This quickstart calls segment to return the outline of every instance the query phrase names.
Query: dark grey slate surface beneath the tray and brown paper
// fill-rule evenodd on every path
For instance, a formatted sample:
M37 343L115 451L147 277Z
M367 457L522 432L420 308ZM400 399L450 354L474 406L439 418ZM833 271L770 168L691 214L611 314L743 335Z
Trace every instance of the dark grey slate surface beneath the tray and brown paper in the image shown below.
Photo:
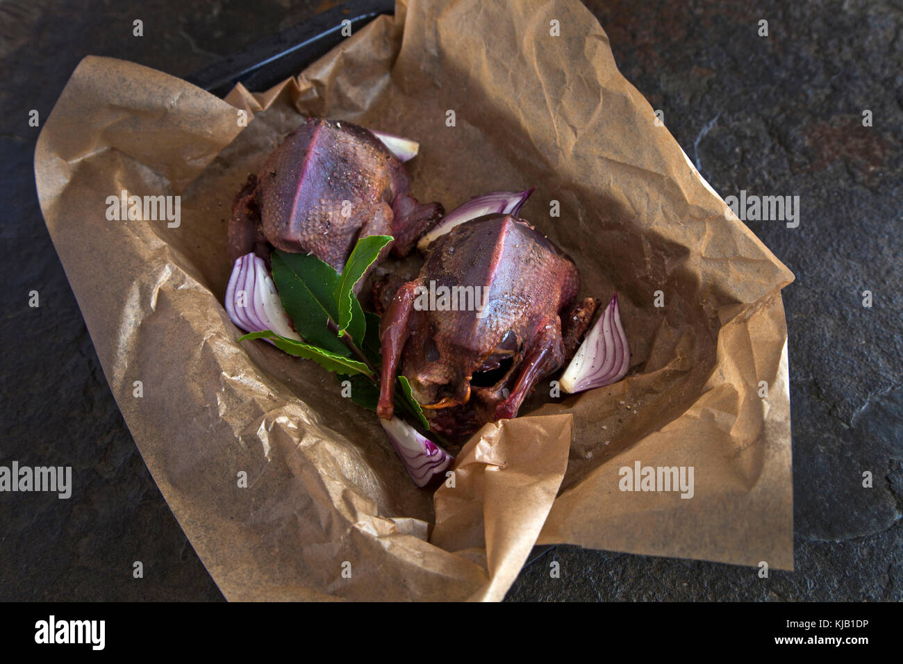
M0 463L71 465L77 478L70 500L0 493L0 600L222 598L110 395L38 210L28 110L46 117L87 53L185 76L333 4L258 0L253 20L238 0L0 5ZM557 547L508 599L903 599L903 7L588 5L622 72L716 191L800 197L796 229L749 222L796 273L784 291L796 572L759 579L750 568ZM131 36L135 18L143 38ZM874 126L861 125L864 109ZM32 289L38 309L27 305ZM866 470L872 489L861 487ZM132 578L135 560L144 579ZM561 578L550 577L552 560Z

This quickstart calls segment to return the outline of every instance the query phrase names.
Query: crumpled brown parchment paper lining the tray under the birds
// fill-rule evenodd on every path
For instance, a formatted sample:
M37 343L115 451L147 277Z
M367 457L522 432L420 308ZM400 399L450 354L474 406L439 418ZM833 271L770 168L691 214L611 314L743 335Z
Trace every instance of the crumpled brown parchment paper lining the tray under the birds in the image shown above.
M414 488L334 377L237 343L221 305L232 197L302 115L419 140L414 195L447 210L535 185L522 215L585 294L619 293L628 378L537 390L464 446L454 488ZM42 212L135 443L229 600L498 600L537 541L792 568L793 276L655 120L576 0L399 2L297 79L226 100L81 61L35 152ZM122 190L180 195L181 225L107 220ZM694 497L619 491L637 461L693 466Z

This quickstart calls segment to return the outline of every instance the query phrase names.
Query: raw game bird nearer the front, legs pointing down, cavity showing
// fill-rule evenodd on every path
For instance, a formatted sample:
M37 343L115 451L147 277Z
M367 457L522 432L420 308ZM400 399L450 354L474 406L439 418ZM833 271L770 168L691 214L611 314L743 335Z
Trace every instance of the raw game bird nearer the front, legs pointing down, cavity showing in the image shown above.
M418 310L424 304L417 304L418 286L431 281L435 289L485 287L482 317ZM457 439L517 416L537 381L573 353L564 339L579 339L591 321L595 300L572 306L579 286L573 261L511 215L480 217L436 239L420 274L398 288L382 320L379 416L393 414L399 370L441 434Z

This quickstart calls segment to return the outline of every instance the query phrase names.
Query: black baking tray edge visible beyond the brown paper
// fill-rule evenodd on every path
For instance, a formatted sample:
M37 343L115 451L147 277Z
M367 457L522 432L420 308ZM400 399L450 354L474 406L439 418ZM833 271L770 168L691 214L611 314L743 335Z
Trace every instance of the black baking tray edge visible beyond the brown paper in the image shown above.
M349 0L214 62L186 80L220 98L236 83L261 92L296 76L337 46L345 39L341 34L343 21L350 21L353 34L378 15L394 13L394 0ZM533 547L524 566L532 565L553 548Z

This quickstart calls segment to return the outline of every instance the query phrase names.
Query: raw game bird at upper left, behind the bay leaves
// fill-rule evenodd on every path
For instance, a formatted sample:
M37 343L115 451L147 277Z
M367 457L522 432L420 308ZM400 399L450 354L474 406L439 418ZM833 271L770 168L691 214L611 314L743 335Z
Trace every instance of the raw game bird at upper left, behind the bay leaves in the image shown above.
M340 271L359 238L391 235L385 251L405 256L441 217L441 205L410 196L405 165L367 129L312 117L238 192L229 257L263 256L268 242Z

